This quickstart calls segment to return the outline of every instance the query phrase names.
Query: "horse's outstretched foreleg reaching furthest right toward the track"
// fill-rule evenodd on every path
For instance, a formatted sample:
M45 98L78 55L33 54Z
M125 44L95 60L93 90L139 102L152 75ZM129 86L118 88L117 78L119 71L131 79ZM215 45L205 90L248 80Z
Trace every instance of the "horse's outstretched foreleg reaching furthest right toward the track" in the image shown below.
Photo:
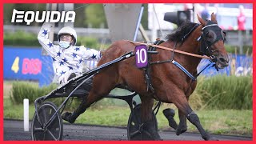
M217 140L216 138L210 137L209 134L206 133L206 130L202 128L202 125L199 121L198 115L194 113L194 111L189 106L185 95L179 95L178 98L174 101L175 106L178 107L178 110L181 110L182 114L186 115L186 118L198 128L198 131L202 135L202 138L206 141L208 140Z

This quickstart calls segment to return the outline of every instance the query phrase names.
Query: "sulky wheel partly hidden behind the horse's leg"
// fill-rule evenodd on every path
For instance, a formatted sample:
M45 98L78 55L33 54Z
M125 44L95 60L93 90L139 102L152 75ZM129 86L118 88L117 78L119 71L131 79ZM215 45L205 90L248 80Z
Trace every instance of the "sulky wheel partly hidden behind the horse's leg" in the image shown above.
M128 125L127 125L127 137L128 140L153 140L149 133L146 133L142 129L141 121L141 104L134 107L134 113L130 113ZM152 117L154 122L154 129L158 130L158 122L152 111Z

